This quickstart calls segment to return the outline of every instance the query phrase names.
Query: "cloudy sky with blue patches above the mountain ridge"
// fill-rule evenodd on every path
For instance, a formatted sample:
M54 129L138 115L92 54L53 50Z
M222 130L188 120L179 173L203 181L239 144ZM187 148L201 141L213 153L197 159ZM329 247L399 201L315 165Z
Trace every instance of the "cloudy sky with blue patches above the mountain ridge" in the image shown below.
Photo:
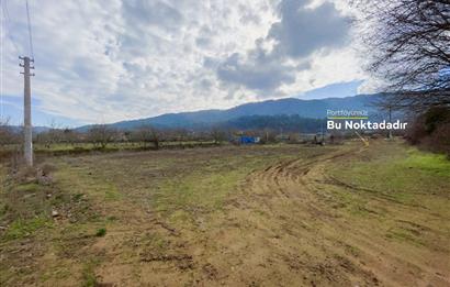
M25 0L1 1L1 110L20 123ZM345 0L29 0L35 125L370 91Z

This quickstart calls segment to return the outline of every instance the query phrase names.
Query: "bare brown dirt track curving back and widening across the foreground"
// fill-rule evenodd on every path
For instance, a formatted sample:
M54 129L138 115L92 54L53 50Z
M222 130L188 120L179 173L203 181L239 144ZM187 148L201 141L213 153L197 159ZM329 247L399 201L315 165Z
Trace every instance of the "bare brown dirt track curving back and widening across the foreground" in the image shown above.
M414 232L429 232L410 221L424 210L327 173L328 165L360 153L324 150L256 170L224 210L195 214L196 228L121 203L126 229L91 249L109 258L97 274L113 286L449 286L439 246L405 247L380 228L391 220L381 213L389 212ZM369 216L349 216L339 192L363 192ZM160 251L148 245L160 239Z

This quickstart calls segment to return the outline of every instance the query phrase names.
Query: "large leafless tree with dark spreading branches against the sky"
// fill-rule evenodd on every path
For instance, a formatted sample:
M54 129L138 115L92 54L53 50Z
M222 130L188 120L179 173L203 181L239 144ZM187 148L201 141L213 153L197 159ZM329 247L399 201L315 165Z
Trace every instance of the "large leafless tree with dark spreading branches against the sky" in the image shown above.
M386 107L450 104L450 1L353 0L368 70L385 87Z

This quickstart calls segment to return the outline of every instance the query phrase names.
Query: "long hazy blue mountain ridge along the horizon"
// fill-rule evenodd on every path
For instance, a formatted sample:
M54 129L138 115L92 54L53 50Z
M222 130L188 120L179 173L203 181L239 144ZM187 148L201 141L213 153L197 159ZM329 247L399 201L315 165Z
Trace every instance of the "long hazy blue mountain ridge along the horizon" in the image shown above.
M299 114L302 118L324 119L326 118L327 109L364 109L369 112L376 113L378 110L373 106L373 102L378 97L379 95L358 95L346 98L326 98L317 100L286 98L245 103L227 110L202 110L194 112L166 113L153 118L121 121L112 123L110 126L130 130L146 124L150 124L156 128L204 128L248 115ZM83 125L77 130L86 131L90 126L92 125Z

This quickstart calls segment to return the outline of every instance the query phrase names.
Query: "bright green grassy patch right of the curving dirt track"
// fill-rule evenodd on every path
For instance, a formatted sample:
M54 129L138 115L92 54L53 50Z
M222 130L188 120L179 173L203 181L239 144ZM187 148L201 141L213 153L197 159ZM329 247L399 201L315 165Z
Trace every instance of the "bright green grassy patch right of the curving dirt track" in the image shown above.
M383 148L368 151L360 161L344 163L334 174L349 184L383 190L394 197L447 191L445 188L450 179L450 161L445 155L398 144L385 145ZM373 155L373 152L381 154Z

